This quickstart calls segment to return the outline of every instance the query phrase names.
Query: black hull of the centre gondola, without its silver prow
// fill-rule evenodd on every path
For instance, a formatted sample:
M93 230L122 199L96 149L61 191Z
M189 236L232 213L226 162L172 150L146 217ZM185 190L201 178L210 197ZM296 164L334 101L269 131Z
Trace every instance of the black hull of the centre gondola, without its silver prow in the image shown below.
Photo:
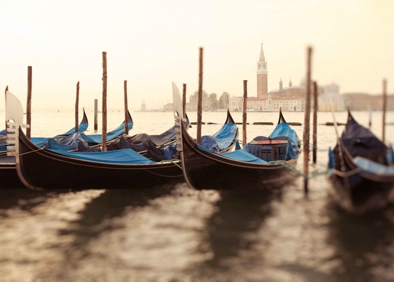
M184 127L182 140L185 178L197 189L266 189L280 187L295 176L281 165L241 162L200 150ZM296 159L289 163L294 165Z

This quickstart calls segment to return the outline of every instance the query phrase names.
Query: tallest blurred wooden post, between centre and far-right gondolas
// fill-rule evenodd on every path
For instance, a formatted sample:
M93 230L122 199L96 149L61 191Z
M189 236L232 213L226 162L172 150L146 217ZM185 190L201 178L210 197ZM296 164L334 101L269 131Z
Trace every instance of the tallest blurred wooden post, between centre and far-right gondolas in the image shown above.
M303 136L303 153L304 153L304 190L308 192L308 165L309 165L309 119L311 116L311 54L312 48L308 47L307 58L307 81L306 81L306 94L305 94L305 116L304 116L304 136Z

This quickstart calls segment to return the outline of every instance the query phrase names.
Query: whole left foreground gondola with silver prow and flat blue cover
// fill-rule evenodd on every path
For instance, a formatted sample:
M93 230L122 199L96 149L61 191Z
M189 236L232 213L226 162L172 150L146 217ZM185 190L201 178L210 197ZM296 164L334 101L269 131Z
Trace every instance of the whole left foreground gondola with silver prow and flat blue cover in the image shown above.
M33 189L147 188L183 180L179 161L156 163L131 149L106 152L69 152L42 149L22 130L23 109L6 91L8 132L13 132L16 171ZM11 122L13 120L14 122Z

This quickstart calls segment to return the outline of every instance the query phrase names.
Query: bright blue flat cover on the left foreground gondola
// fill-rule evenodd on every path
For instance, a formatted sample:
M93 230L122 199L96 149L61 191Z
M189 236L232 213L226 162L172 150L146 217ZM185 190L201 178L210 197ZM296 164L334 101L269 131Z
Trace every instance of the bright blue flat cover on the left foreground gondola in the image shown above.
M65 155L71 158L85 160L90 162L99 162L106 164L120 164L120 165L142 165L142 164L156 164L144 156L134 152L131 149L122 149L115 151L106 151L106 152L91 152L91 153L82 153L82 152L68 152L62 150L52 150L50 151Z

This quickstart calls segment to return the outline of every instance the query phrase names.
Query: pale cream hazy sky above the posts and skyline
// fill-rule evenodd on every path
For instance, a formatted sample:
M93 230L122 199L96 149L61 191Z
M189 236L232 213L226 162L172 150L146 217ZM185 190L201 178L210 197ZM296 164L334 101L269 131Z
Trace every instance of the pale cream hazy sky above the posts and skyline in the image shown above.
M394 92L394 0L4 0L0 10L0 87L25 105L32 66L33 108L73 108L78 81L81 107L100 101L103 51L109 107L123 107L125 80L131 109L171 102L172 81L193 94L199 47L206 93L242 95L248 80L256 96L262 43L268 90L299 85L312 46L318 84L381 94L387 79Z

